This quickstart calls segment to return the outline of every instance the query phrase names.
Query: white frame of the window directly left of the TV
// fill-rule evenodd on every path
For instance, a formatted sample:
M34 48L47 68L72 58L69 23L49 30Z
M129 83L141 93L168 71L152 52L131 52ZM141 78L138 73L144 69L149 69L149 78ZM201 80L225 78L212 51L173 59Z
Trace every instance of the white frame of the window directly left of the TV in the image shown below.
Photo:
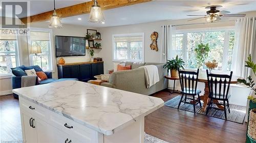
M49 41L49 55L48 55L48 57L50 58L50 60L49 60L49 70L46 70L46 71L44 71L44 72L55 72L55 60L53 60L54 59L54 54L53 54L53 52L54 52L54 46L53 46L53 34L52 34L52 29L48 29L48 28L35 28L35 27L31 27L30 28L30 31L34 31L34 32L49 32L49 39L50 39L50 41ZM30 53L30 50L31 50L31 44L32 44L32 41L31 41L31 39L30 39L30 31L29 31L29 34L28 34L28 44L29 44L29 46L28 46L28 51L29 51L29 65L30 66L33 66L33 54L31 54Z

